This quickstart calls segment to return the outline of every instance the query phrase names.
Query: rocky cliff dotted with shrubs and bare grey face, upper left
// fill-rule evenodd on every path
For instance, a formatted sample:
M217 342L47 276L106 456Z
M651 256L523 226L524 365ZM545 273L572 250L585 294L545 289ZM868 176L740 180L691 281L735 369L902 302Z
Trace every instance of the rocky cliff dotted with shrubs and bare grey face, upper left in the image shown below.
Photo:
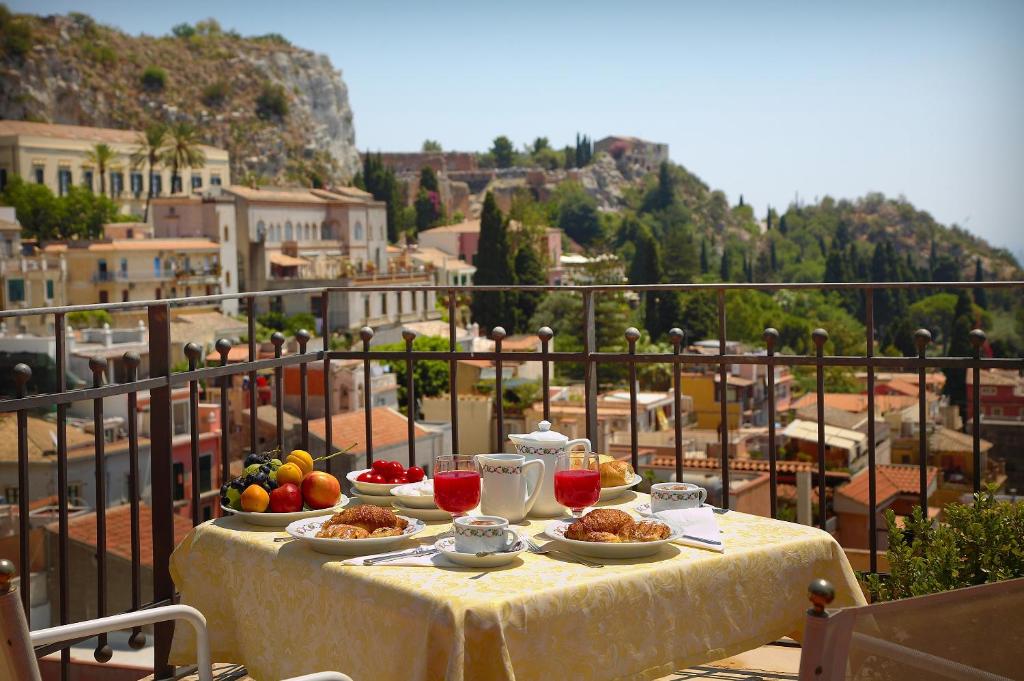
M215 22L129 36L84 14L22 15L0 50L0 118L141 129L194 123L231 153L236 181L316 184L358 169L348 90L326 55Z

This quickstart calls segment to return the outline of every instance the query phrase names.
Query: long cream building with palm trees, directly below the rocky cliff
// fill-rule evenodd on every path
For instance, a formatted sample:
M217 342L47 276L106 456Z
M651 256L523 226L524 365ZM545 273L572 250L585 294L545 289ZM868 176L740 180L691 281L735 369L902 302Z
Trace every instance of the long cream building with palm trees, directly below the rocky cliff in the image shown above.
M138 147L135 130L53 125L30 121L0 121L0 189L10 177L45 184L62 196L72 185L99 191L99 171L87 160L96 144L106 144L117 154L106 169L106 193L118 200L127 213L141 215L151 185L154 196L193 195L209 186L229 184L230 166L225 150L202 145L206 163L202 168L184 168L181 186L171 186L171 169L161 165L146 177L148 168L133 168L131 156Z

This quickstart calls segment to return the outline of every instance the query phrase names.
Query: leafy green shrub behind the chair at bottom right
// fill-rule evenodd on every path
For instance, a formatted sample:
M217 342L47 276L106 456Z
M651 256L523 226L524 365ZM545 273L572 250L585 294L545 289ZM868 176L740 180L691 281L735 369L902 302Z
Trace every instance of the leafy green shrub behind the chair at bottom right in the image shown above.
M888 576L869 574L874 600L922 596L1024 577L1024 504L995 500L991 490L974 503L949 504L932 524L914 507L904 527L889 510Z

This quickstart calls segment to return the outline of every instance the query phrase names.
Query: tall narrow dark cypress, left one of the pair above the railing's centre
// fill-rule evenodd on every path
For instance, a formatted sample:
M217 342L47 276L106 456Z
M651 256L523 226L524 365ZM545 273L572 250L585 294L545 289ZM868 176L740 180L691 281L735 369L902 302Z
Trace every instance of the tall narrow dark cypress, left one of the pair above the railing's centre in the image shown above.
M476 285L510 285L515 283L512 259L509 252L508 225L502 215L495 195L487 191L480 212L480 241L476 252ZM510 296L505 291L477 291L473 294L470 310L473 321L489 332L490 329L510 320L507 308Z

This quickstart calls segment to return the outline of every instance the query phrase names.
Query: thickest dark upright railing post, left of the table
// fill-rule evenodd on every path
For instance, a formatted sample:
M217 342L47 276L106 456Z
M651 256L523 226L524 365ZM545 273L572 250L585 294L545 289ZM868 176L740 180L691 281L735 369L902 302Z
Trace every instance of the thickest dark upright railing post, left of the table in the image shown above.
M150 375L167 379L167 383L150 392L150 467L152 476L153 514L153 600L169 601L174 597L171 580L171 552L174 550L174 497L171 472L171 327L167 303L154 303L147 308L150 328ZM250 385L256 389L255 380ZM255 451L255 450L254 450ZM154 625L154 676L170 677L174 668L167 664L171 651L173 623Z

